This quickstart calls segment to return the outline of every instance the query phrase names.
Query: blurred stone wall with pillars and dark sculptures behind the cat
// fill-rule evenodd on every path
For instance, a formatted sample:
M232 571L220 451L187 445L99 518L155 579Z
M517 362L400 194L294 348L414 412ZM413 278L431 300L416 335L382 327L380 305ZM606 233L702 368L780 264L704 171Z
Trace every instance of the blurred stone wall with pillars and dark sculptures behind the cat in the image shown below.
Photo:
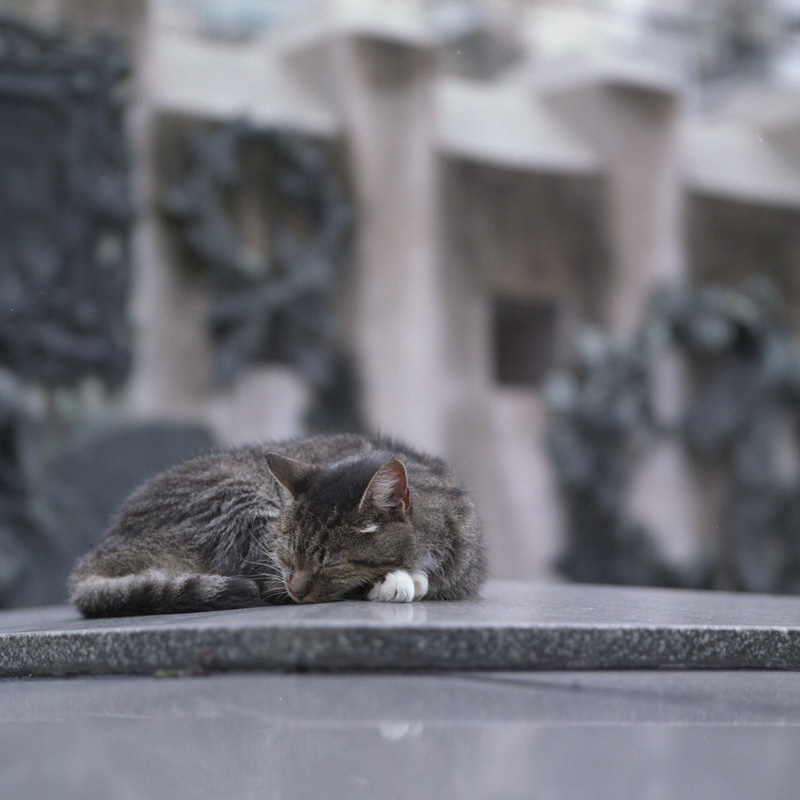
M0 603L379 431L494 577L800 591L800 4L0 2Z

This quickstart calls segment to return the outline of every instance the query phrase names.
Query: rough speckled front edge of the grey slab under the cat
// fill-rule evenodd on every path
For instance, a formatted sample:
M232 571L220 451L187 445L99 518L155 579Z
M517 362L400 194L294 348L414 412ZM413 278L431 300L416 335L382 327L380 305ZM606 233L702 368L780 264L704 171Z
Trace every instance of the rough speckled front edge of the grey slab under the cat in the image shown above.
M0 636L0 677L601 669L800 670L800 629L304 626Z

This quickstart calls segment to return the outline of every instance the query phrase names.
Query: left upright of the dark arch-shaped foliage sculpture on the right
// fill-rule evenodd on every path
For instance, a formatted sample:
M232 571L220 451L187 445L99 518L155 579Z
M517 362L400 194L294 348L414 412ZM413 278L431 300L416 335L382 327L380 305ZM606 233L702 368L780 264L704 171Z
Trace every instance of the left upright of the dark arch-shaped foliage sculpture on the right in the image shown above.
M625 515L633 454L651 414L647 353L585 331L574 375L548 387L549 437L564 498L568 550L559 568L586 583L670 585L669 568L643 527Z

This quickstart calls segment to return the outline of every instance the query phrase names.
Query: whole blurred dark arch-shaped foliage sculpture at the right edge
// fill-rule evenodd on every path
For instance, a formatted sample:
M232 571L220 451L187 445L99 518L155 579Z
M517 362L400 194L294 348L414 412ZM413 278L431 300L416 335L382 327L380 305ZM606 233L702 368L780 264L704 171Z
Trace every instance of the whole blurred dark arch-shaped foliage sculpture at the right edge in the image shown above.
M688 402L672 424L653 410L653 365L666 349L690 373ZM795 452L800 443L800 353L767 281L657 292L633 341L584 334L573 372L556 378L548 397L568 524L559 568L568 577L800 593L800 476L782 475L775 459L781 420ZM699 485L714 474L725 486L718 541L688 567L667 563L626 511L637 456L659 437L680 443Z

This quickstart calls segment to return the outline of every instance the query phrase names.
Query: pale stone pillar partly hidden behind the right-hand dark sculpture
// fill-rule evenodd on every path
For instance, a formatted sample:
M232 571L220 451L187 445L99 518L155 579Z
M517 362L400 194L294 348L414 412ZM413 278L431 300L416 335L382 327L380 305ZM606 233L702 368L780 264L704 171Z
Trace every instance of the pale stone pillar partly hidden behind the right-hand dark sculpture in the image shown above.
M686 277L681 101L661 87L612 83L598 91L611 256L605 320L613 335L630 341L653 290ZM677 421L687 380L682 358L670 352L657 357L654 397L663 421ZM637 464L629 515L645 523L671 560L694 557L702 501L680 445L660 442Z

